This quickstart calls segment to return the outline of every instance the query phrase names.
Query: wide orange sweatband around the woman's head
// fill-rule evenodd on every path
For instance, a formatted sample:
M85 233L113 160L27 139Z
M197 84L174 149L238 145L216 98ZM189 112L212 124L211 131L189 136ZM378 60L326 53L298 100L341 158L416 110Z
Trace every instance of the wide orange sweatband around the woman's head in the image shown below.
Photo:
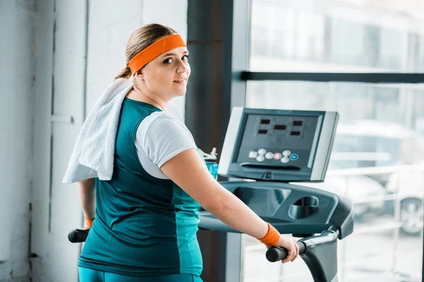
M187 47L181 35L168 35L154 42L146 49L143 49L139 54L136 54L128 66L131 68L131 74L134 75L139 69L146 66L149 61L152 61L157 56L177 47Z

